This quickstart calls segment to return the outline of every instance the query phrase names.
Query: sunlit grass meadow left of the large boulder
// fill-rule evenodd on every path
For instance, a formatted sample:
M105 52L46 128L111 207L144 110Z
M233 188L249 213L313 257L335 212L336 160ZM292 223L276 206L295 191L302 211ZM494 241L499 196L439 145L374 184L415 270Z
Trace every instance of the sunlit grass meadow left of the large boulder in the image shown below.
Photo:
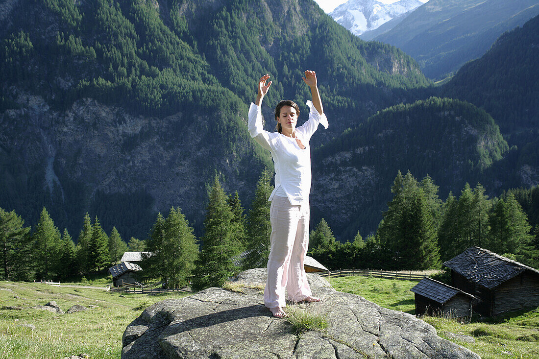
M80 354L90 358L120 358L123 331L144 308L187 294L123 295L125 298L119 293L85 287L0 281L0 308L45 305L51 300L64 311L75 304L98 306L87 312L64 315L31 308L0 309L0 358L61 359ZM36 329L20 327L26 323Z

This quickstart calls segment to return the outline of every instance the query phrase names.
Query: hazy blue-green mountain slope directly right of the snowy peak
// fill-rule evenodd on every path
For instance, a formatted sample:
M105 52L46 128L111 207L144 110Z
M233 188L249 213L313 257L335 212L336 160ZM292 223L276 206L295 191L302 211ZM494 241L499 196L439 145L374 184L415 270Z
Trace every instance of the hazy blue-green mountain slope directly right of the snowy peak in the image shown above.
M537 0L430 0L374 40L416 59L432 79L482 56L507 30L539 14Z

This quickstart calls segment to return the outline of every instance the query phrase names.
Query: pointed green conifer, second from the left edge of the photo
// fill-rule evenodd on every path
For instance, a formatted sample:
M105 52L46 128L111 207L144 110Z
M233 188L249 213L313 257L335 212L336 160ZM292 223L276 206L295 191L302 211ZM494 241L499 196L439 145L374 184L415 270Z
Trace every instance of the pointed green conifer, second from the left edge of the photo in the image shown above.
M49 212L43 207L36 231L33 233L34 264L38 278L58 277L60 262L60 231L54 225Z

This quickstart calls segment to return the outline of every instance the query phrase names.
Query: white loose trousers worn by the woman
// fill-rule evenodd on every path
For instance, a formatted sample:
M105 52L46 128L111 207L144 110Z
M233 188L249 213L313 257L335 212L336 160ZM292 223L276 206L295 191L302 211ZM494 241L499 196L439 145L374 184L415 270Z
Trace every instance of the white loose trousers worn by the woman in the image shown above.
M264 289L268 308L285 307L288 300L299 302L312 295L303 260L309 247L309 202L292 205L287 197L274 196L270 208L271 251Z

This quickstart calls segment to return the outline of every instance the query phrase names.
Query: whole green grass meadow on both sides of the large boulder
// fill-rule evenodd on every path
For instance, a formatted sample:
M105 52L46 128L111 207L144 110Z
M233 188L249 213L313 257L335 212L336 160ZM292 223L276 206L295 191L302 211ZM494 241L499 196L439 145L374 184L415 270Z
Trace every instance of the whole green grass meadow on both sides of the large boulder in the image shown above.
M91 281L93 285L100 283L99 279ZM414 314L410 288L417 282L357 276L331 278L330 282L338 291L358 294L383 307ZM145 307L187 294L124 295L125 298L122 298L119 293L84 286L54 287L0 281L0 359L63 359L72 354L88 354L90 358L120 358L123 331ZM51 300L56 301L64 311L75 304L98 307L64 315L27 308L45 305ZM2 309L6 306L26 308ZM474 337L475 343L452 341L473 350L483 359L539 358L537 309L499 317L496 321L473 320L468 324L440 317L423 319L446 339L450 339L446 333ZM23 324L32 324L36 329L20 327Z

